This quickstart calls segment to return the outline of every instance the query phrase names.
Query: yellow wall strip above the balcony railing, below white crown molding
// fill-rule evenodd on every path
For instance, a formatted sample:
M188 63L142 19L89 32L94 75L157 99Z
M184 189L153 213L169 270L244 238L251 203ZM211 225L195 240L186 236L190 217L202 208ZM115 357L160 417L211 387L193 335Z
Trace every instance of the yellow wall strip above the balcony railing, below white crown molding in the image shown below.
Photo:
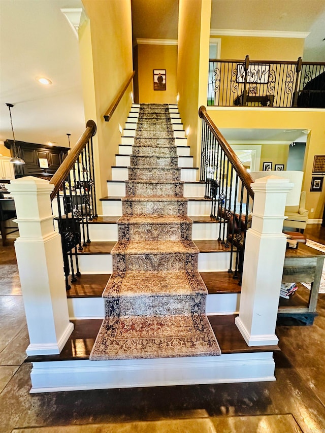
M222 59L294 60L303 55L304 39L253 36L214 36L221 38ZM211 38L214 38L213 36Z

